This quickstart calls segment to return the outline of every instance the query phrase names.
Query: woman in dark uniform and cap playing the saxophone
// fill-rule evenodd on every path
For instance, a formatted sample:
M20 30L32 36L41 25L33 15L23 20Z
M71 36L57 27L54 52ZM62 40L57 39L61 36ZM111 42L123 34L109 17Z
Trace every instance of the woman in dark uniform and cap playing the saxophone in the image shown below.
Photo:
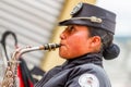
M103 59L111 60L120 49L114 44L116 14L99 7L79 3L60 35L59 55L67 61L47 72L35 87L111 87Z

